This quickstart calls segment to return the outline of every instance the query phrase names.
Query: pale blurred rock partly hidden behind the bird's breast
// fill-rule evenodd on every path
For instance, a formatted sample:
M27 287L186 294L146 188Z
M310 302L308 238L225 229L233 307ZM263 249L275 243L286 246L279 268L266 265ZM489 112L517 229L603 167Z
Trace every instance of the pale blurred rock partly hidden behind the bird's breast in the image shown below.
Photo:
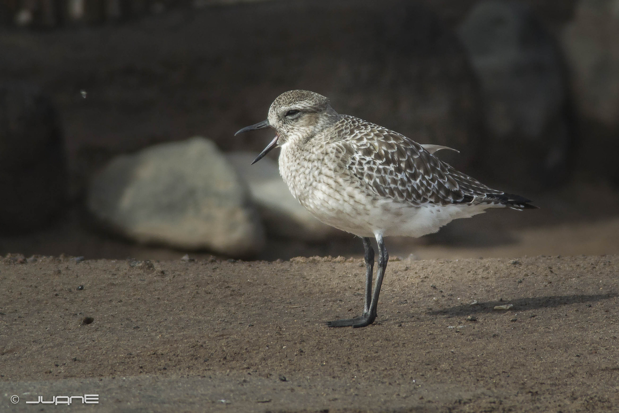
M251 197L268 233L276 237L319 242L344 234L314 218L295 199L279 175L277 163L256 158L253 152L231 152L228 159L249 186Z

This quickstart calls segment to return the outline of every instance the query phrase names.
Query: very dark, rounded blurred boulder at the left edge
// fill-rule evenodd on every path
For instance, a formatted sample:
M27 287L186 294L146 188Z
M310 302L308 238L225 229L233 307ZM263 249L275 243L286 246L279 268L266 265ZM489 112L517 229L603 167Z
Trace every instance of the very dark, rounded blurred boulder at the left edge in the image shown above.
M0 84L0 231L50 221L66 202L67 173L58 114L36 87Z

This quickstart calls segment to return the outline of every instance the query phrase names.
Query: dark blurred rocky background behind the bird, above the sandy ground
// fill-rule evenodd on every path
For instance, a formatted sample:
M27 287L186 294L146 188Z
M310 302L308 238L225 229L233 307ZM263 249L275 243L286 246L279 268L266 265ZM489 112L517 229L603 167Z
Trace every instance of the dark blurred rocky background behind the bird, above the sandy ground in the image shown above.
M0 253L359 255L243 167L272 132L234 132L292 89L541 208L392 256L619 253L614 0L0 0Z

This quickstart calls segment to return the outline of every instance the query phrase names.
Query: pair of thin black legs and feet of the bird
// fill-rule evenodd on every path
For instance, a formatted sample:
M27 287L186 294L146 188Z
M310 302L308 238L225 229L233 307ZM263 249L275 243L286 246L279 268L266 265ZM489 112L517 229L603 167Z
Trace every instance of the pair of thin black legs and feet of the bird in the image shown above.
M365 269L366 269L366 284L365 284L365 305L363 313L355 318L346 318L343 320L335 320L327 322L329 327L365 327L374 323L376 320L376 308L378 306L378 296L381 293L381 285L383 285L383 277L389 261L389 254L383 243L383 237L376 237L378 243L378 271L376 274L376 284L374 285L374 293L372 294L372 272L374 267L374 250L370 244L370 238L363 238L363 246L365 247Z

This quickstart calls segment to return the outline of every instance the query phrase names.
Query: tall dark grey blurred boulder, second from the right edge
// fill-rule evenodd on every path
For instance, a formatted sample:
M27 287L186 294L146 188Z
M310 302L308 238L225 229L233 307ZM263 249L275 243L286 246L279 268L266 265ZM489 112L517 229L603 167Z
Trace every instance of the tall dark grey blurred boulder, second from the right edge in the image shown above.
M510 183L563 182L574 132L552 37L515 1L479 2L458 31L482 86L487 168Z

